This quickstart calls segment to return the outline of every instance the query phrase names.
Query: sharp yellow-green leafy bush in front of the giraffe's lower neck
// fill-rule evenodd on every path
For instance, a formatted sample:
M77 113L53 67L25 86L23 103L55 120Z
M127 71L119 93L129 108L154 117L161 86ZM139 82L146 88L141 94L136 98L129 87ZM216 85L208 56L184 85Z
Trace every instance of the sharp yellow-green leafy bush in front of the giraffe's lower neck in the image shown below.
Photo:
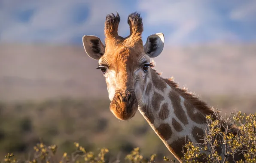
M216 112L213 116L207 116L208 130L205 130L205 136L202 138L204 143L188 142L184 148L186 152L183 161L256 163L256 113L242 115L241 112L235 112L232 115L223 118ZM238 132L234 132L236 130ZM224 154L221 156L219 151ZM237 159L239 154L244 160Z

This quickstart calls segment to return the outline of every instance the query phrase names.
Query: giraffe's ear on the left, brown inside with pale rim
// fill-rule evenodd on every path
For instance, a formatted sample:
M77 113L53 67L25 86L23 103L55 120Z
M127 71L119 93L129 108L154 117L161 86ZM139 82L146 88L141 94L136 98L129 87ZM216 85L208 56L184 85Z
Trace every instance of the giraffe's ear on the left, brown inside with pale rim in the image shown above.
M85 52L94 60L99 60L105 53L105 45L97 36L85 35L82 37Z

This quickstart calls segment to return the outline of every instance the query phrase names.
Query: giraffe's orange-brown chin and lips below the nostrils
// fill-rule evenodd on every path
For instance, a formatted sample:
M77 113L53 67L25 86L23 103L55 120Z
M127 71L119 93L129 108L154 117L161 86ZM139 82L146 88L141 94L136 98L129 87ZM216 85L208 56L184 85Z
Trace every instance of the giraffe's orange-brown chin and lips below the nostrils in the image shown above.
M129 106L126 102L116 103L114 100L110 103L110 111L115 115L116 118L122 121L127 121L134 117L137 109L137 101L131 103Z

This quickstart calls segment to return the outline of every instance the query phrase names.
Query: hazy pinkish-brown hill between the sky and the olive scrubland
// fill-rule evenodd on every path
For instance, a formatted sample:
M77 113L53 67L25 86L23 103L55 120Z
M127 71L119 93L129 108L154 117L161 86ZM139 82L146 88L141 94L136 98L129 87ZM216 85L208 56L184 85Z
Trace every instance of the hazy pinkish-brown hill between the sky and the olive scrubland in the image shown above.
M165 46L155 59L164 77L196 94L254 94L256 44ZM106 97L97 60L82 46L0 45L0 99Z

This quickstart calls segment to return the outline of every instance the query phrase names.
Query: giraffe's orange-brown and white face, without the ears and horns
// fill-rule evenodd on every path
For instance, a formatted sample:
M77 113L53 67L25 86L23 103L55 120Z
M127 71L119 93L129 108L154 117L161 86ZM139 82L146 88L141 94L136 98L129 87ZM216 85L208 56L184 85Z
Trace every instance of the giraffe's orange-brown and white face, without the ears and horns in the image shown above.
M143 47L143 46L142 46ZM143 48L118 47L106 51L99 60L99 69L106 78L110 110L121 120L132 118L138 108L150 58ZM138 97L138 98L137 98Z

